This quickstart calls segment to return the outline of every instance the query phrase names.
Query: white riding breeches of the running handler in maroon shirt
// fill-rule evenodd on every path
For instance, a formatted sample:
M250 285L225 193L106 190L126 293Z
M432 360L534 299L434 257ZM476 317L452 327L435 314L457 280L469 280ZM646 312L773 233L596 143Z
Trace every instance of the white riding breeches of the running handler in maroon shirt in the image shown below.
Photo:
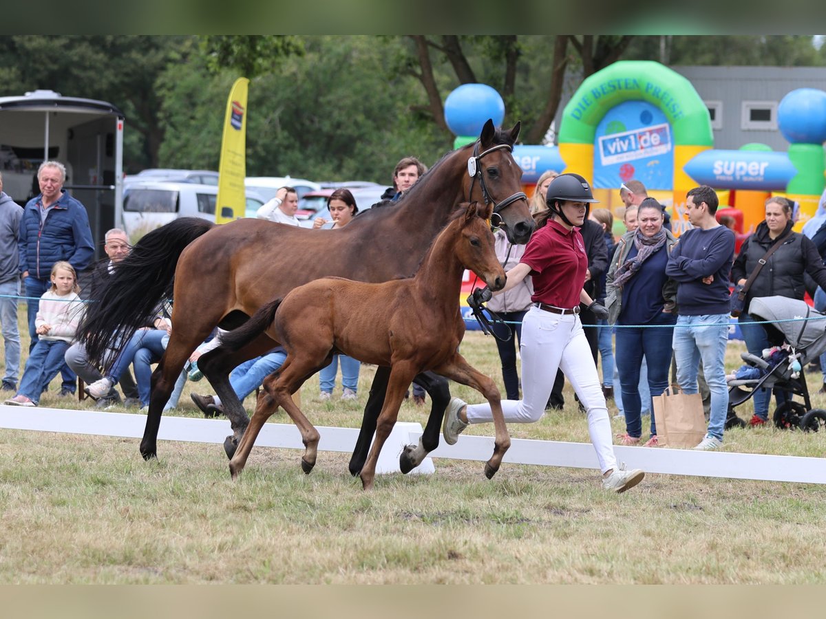
M588 432L601 472L616 469L611 422L591 347L576 314L551 314L532 307L522 322L522 394L520 400L502 400L506 423L533 423L545 412L557 369L571 381L586 409ZM491 405L468 406L470 423L493 419Z

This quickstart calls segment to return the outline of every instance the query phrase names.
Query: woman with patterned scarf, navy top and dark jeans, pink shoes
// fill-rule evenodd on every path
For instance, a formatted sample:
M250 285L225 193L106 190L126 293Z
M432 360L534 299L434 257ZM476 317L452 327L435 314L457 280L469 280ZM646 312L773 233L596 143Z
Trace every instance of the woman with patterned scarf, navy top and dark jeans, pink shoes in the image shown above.
M666 275L666 264L677 241L662 227L662 208L653 198L639 205L637 220L638 228L619 239L606 282L608 322L619 326L615 359L625 413L625 433L618 435L622 445L638 445L643 434L639 396L643 357L651 394L662 394L668 386L676 324L676 281ZM653 415L645 447L657 447Z

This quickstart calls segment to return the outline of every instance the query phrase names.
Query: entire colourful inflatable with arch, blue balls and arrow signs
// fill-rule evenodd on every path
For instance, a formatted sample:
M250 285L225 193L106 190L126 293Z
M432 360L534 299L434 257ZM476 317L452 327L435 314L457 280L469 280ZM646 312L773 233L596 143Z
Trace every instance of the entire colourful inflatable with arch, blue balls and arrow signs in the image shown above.
M454 148L476 139L488 118L501 125L504 116L501 96L486 84L463 84L444 102L444 118L457 135ZM686 191L700 184L718 190L720 210L735 215L741 234L762 221L766 199L778 193L799 203L800 229L824 191L826 92L788 92L777 122L790 142L787 153L764 144L714 149L709 111L688 79L654 61L622 60L577 89L563 111L558 147L520 144L514 158L528 195L548 169L577 172L591 179L601 206L615 211L624 206L621 184L643 182L672 211L675 234L688 227Z

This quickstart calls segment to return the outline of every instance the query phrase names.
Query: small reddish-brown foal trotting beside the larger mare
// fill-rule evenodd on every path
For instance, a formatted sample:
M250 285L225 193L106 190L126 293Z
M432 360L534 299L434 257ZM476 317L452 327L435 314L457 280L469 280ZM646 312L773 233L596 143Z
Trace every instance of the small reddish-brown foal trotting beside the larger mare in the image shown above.
M436 237L419 271L410 279L380 284L339 277L311 281L293 289L284 300L264 305L247 324L225 338L225 346L232 350L266 331L287 350L281 368L263 381L268 397L259 396L253 418L230 461L233 479L244 469L263 423L279 406L301 431L306 447L301 468L305 473L312 470L320 436L292 394L327 366L336 352L390 367L376 440L361 470L364 489L373 487L378 455L396 423L411 380L425 370L472 386L490 402L496 439L485 474L490 479L499 470L510 447L499 390L458 352L465 332L458 301L464 269L476 272L492 291L505 286L505 271L496 258L493 234L485 221L490 214L490 206L480 210L476 203L465 205L463 214Z

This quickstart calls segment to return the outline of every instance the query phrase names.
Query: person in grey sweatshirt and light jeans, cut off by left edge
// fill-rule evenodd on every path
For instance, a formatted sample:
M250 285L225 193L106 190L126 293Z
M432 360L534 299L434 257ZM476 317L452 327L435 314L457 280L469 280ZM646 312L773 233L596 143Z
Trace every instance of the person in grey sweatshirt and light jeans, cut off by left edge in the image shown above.
M6 375L2 390L17 392L20 371L20 331L17 329L17 296L20 295L20 233L22 207L2 191L0 174L0 327L6 344Z

